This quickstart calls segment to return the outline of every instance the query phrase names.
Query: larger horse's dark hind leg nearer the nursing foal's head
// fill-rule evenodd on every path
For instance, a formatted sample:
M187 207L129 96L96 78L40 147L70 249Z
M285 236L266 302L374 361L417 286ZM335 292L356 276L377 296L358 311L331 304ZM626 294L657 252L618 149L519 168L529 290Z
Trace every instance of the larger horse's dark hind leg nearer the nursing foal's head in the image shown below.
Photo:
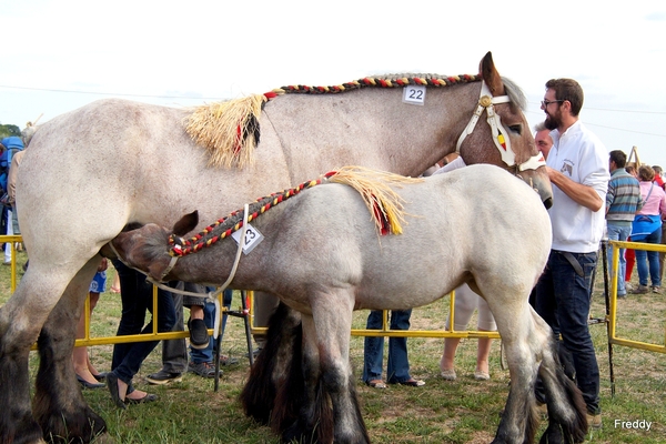
M32 413L49 441L88 443L107 430L83 398L72 363L81 307L99 263L100 256L95 255L79 271L39 335L40 365Z

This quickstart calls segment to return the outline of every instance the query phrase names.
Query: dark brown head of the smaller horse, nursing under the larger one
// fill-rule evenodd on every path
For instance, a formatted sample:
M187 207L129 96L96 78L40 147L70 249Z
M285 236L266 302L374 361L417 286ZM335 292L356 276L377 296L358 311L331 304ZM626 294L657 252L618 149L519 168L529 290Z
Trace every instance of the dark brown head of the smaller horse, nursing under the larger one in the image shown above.
M164 281L178 258L170 254L170 238L185 235L198 222L199 214L194 211L178 221L173 230L149 223L123 231L110 242L111 249L125 265L148 274L154 281Z

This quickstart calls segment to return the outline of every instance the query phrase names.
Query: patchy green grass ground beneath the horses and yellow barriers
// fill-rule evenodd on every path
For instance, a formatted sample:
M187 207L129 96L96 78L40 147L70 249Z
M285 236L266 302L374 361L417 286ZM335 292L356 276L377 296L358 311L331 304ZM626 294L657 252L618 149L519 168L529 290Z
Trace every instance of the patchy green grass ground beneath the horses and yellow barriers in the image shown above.
M19 263L26 261L23 253ZM113 270L110 270L111 279ZM604 317L602 273L597 273L593 316ZM637 276L634 276L637 280ZM110 287L110 282L108 287ZM10 295L9 268L0 270L0 304ZM240 302L234 297L233 306ZM442 329L447 313L447 299L427 307L415 309L412 329ZM118 326L120 297L102 294L91 322L92 336L112 336ZM363 327L367 312L355 314L354 327ZM637 341L664 344L666 302L664 295L629 295L619 301L617 334ZM474 320L473 320L474 322ZM473 323L475 325L475 323ZM223 352L241 359L241 364L224 369L220 390L213 391L212 380L188 374L181 383L150 386L145 375L161 367L161 347L144 362L135 383L157 393L160 401L132 405L119 411L107 390L87 390L84 397L101 414L109 426L109 437L115 443L278 443L266 427L246 418L238 395L248 375L244 356L246 343L243 323L230 319L223 340ZM615 396L609 381L608 345L605 324L591 326L602 370L602 407L604 426L588 438L592 443L664 443L666 442L666 359L663 354L615 346ZM380 391L361 384L363 339L352 337L351 356L357 375L362 411L374 443L487 443L492 441L500 413L508 391L508 371L500 364L500 342L494 341L491 375L487 382L473 379L476 346L465 340L458 349L458 380L443 381L438 376L442 339L410 339L412 374L426 381L424 387L389 386ZM91 359L100 371L109 370L111 345L90 349ZM386 357L386 356L385 356ZM32 353L31 372L38 357ZM623 428L615 421L652 422L649 431ZM542 425L543 430L543 425ZM541 432L539 432L541 434Z

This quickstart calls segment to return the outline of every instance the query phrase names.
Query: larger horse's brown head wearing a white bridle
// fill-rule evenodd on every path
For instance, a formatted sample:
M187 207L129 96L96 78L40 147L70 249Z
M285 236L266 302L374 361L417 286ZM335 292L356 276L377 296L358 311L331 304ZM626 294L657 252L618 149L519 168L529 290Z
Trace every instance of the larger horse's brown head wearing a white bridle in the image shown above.
M481 61L480 71L483 81L478 104L458 138L456 151L466 164L491 163L513 172L536 189L544 205L551 208L553 190L545 159L522 111L525 95L500 75L490 52Z

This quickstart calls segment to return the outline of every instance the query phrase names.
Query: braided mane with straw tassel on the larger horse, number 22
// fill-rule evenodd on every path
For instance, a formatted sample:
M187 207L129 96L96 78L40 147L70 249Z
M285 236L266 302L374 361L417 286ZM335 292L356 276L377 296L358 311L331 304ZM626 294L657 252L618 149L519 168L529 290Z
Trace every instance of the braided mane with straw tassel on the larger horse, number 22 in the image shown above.
M195 108L185 118L185 131L200 147L209 152L212 167L243 168L253 161L254 148L260 139L259 118L263 104L278 95L335 94L362 88L402 88L408 84L447 87L480 81L478 75L437 74L387 74L363 79L333 87L309 87L303 84L274 89L264 94L214 102Z

